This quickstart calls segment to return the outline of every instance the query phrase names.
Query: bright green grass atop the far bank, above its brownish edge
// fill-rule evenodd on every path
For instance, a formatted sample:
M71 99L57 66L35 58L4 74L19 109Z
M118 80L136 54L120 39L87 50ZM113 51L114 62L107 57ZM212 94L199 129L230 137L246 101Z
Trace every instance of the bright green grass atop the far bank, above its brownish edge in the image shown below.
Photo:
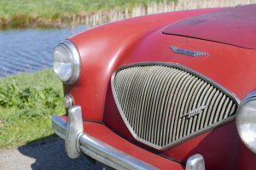
M79 14L114 8L133 8L136 5L159 3L163 0L1 0L0 15L13 17L15 14L34 14L55 19L61 14ZM173 0L167 0L173 2Z

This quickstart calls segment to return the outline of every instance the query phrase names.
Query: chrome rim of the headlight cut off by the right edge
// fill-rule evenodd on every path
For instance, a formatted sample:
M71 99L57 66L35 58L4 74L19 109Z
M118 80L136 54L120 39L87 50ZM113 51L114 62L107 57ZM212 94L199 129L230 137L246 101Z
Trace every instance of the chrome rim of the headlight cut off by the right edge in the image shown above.
M241 109L244 109L242 107L247 107L248 102L252 102L252 101L256 101L256 91L253 91L250 94L247 94L247 96L241 101L241 104L239 105L239 107L237 109L237 113L236 113L236 129L237 129L237 132L238 132L239 137L240 137L241 141L243 142L243 144L245 144L249 150L251 150L254 154L256 154L256 147L255 147L256 144L255 143L250 144L248 139L246 137L244 137L245 135L242 132L242 129L240 127L241 125L239 122L239 119L243 118L243 117L241 117L241 116L243 116L242 114L245 114L245 113L243 113L243 111L241 111ZM256 109L256 107L255 107L255 109ZM256 116L255 116L255 118L256 118ZM256 123L255 123L255 125L256 125Z

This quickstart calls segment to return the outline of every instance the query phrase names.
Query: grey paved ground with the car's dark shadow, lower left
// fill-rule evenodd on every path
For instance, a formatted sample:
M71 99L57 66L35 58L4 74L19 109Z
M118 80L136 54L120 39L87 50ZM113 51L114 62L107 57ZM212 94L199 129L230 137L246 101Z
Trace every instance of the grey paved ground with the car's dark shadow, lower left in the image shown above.
M20 169L90 170L95 169L95 166L85 156L69 159L64 141L55 137L44 143L26 144L15 150L0 150L0 170Z

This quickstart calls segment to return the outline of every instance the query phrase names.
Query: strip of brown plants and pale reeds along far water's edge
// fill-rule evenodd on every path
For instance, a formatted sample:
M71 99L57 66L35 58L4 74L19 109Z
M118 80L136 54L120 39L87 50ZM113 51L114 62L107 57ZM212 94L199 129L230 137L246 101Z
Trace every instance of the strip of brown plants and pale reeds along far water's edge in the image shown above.
M150 3L137 5L134 8L104 9L95 12L79 12L78 14L60 14L54 19L45 19L36 15L26 15L18 21L15 19L0 18L0 28L2 27L64 27L64 26L97 26L106 22L123 20L130 17L144 14L157 14L169 11L195 9L195 8L216 8L234 7L240 4L256 3L256 0L177 0L177 2L162 1L161 3Z

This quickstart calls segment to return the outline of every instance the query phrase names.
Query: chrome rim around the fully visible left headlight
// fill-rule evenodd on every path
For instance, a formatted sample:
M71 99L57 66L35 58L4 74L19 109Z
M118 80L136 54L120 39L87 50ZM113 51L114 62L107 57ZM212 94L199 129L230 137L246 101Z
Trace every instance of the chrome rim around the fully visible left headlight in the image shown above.
M60 47L60 46L62 48L66 48L67 51L71 54L71 62L72 62L71 76L67 79L67 81L61 80L61 82L65 83L65 84L73 84L75 82L78 82L79 77L81 75L81 58L80 58L79 50L76 48L76 46L70 40L64 40L63 42L60 42L55 48ZM55 49L54 49L54 51L55 51Z

